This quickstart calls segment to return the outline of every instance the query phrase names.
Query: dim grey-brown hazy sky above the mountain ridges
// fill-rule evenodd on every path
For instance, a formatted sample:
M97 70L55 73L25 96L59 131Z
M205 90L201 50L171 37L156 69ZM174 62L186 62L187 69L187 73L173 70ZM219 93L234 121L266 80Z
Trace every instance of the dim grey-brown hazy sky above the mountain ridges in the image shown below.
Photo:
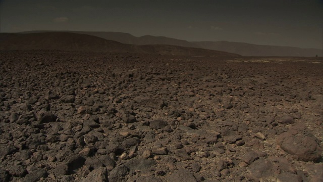
M117 31L323 47L323 0L0 0L0 31Z

